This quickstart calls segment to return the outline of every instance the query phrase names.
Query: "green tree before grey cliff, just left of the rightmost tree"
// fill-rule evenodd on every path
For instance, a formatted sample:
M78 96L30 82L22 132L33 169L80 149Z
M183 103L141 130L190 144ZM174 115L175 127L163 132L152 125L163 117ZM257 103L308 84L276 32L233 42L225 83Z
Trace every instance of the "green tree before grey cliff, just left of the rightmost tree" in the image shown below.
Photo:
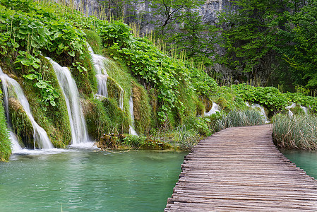
M222 64L255 77L275 58L272 43L285 11L285 0L239 0L220 16L225 57Z

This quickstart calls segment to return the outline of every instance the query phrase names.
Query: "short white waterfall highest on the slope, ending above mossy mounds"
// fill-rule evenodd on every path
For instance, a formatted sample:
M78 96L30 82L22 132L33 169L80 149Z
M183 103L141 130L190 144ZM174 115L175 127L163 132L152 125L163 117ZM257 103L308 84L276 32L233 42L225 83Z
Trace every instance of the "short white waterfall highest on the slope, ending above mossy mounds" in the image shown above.
M97 71L96 73L96 78L98 81L97 94L108 97L108 90L107 90L108 73L104 66L105 58L102 57L101 55L95 54L92 48L90 47L90 45L88 45L88 51L90 52L93 64Z

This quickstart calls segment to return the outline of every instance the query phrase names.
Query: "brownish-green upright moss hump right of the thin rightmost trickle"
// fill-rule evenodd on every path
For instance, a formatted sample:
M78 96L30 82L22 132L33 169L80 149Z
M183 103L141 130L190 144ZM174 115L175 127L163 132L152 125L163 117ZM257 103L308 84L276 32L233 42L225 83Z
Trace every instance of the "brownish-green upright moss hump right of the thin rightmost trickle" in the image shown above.
M148 134L152 117L148 93L136 82L132 87L134 126L139 134Z

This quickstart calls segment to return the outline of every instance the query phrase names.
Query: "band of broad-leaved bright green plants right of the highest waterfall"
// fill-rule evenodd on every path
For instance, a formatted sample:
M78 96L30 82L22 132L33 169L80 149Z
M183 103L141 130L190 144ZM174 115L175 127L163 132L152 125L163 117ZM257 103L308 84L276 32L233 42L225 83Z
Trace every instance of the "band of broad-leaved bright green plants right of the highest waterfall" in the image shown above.
M105 47L109 47L114 59L123 61L140 82L157 88L160 106L157 115L161 123L167 122L168 117L174 117L175 110L180 119L184 115L184 102L181 102L178 91L180 82L186 84L186 89L192 90L193 79L194 85L206 95L210 93L210 86L215 87L215 81L200 74L202 71L196 70L190 76L191 71L183 61L167 57L146 38L132 37L129 33L131 29L127 26L122 29L124 26L122 23L112 23L108 27L114 28L111 32L108 28L100 30L102 41Z

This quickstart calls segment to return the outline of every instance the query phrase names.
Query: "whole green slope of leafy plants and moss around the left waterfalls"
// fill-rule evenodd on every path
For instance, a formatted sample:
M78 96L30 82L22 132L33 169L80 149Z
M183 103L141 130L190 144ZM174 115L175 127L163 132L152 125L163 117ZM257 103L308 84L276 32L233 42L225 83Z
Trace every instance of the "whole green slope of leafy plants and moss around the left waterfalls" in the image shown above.
M71 129L64 94L46 57L71 70L92 139L104 133L128 133L130 97L139 134L198 122L196 116L210 105L217 86L213 78L168 57L148 39L133 37L124 23L87 18L66 6L30 0L1 0L0 14L0 66L23 87L35 121L56 147L70 143ZM108 98L94 96L96 72L87 43L116 61L105 60ZM13 94L9 110L13 131L32 148L32 126Z

